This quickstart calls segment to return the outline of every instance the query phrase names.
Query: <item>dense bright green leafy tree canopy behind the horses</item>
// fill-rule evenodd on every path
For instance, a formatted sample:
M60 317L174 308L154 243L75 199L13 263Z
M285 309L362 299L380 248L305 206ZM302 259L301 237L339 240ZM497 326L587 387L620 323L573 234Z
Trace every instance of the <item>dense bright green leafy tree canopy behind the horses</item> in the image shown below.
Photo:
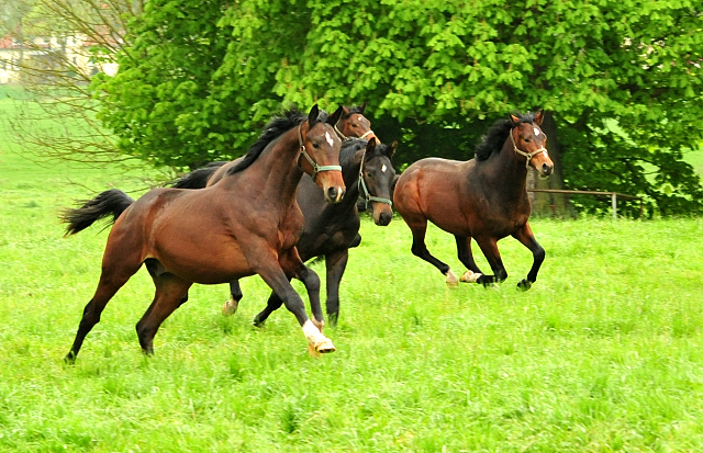
M567 188L701 209L682 161L703 139L700 2L152 0L130 33L93 88L121 149L155 165L238 156L288 102L368 101L399 165L469 159L493 121L544 107Z

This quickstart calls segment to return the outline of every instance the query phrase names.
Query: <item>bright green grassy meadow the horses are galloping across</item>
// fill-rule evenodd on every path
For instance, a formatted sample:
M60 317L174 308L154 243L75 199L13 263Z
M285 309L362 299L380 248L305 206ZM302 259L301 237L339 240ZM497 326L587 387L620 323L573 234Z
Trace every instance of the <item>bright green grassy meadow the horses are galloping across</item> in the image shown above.
M284 309L253 327L269 290L250 278L233 317L226 286L193 286L145 358L141 271L66 365L107 231L64 238L58 213L152 173L27 157L0 148L0 451L703 451L703 219L534 219L547 258L523 293L513 239L502 285L450 290L400 217L365 218L333 354L310 358ZM462 271L451 237L427 245Z

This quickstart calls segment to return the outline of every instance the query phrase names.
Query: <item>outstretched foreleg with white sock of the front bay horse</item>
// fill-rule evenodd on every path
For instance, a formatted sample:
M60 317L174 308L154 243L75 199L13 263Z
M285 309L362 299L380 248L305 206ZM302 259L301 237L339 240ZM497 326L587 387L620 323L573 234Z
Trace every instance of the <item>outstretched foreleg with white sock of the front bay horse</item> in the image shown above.
M295 254L298 254L297 251ZM286 308L295 316L310 347L314 349L315 352L335 351L332 340L322 335L320 329L308 318L303 299L300 298L293 286L291 286L280 264L271 260L271 262L260 265L259 269L257 269L257 273L264 279L266 284L274 290L274 293L283 301Z

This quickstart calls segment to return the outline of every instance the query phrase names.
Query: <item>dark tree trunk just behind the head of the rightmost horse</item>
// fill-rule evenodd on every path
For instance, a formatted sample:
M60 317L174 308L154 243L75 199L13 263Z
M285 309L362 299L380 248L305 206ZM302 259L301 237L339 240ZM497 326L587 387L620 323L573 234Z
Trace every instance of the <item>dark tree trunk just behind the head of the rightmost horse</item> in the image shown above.
M557 136L557 124L551 112L545 112L542 131L547 135L547 152L554 162L554 172L548 178L539 178L537 171L529 168L527 189L563 189L561 172L561 147ZM531 192L532 212L543 217L576 217L576 211L563 193Z

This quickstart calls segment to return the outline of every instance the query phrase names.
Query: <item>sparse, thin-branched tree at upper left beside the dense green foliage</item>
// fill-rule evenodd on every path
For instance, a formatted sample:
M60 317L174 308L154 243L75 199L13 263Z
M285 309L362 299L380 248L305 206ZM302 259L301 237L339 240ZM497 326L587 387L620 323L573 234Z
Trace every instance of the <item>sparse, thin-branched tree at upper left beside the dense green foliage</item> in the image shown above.
M94 71L123 49L126 22L141 13L141 0L9 0L3 4L3 36L23 55L18 66L24 93L9 118L18 143L47 159L115 162L114 135L96 118L99 107L89 84ZM126 49L125 49L126 54ZM40 126L41 125L41 126Z

